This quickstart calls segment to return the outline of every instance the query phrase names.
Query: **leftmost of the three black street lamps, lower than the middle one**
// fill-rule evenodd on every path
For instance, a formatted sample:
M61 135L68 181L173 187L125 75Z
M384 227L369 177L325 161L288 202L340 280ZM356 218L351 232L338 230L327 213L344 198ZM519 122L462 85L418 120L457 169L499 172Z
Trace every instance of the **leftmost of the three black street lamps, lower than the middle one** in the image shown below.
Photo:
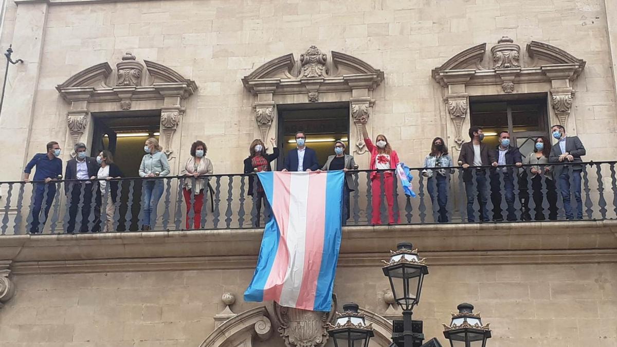
M373 324L366 325L364 314L358 308L358 304L344 304L344 312L337 313L336 325L328 324L334 347L368 347L368 341L375 336Z

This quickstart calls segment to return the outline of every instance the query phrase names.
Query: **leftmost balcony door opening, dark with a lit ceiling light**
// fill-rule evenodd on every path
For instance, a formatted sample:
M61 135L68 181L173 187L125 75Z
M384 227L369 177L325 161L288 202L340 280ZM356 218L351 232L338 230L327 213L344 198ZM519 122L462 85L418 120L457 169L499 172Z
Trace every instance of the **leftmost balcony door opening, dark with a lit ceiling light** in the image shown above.
M91 156L106 149L112 153L114 163L124 177L139 177L139 165L144 156L144 143L148 138L159 138L160 110L93 113L94 133L90 144ZM139 228L141 208L141 181L135 180L129 206L129 180L124 180L120 195L118 232L126 231L126 212L131 209L129 230Z

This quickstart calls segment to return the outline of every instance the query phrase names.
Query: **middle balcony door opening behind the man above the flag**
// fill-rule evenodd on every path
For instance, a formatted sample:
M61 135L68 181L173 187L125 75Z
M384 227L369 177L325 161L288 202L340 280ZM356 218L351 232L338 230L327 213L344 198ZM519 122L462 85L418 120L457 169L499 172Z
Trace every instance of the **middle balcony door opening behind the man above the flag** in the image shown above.
M321 102L319 104L278 105L278 147L284 166L285 156L296 148L296 132L305 132L306 146L317 153L320 167L334 154L334 141L345 143L349 154L349 102Z

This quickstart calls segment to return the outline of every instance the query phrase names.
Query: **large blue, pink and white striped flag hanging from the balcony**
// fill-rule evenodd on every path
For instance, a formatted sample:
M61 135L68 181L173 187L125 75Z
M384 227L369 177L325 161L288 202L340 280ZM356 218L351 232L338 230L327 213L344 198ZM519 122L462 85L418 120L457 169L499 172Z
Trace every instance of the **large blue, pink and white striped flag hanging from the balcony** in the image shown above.
M345 174L259 172L273 218L263 230L253 280L244 301L330 311L341 247Z

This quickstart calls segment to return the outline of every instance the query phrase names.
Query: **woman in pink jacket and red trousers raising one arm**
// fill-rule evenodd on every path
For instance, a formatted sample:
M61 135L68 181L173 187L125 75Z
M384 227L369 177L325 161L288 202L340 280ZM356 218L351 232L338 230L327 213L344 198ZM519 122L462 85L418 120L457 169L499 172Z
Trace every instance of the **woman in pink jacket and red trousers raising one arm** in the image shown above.
M371 153L371 161L369 169L371 170L388 170L396 169L396 165L399 164L399 156L396 151L392 149L390 143L388 143L386 136L377 135L375 138L375 144L368 138L368 132L366 131L366 125L362 125L364 142L366 143L366 149ZM396 175L394 170L386 172L371 172L371 192L373 194L373 218L371 224L381 224L381 182L384 182L387 212L388 212L388 224L397 224L399 222L399 214L394 214L394 180Z

